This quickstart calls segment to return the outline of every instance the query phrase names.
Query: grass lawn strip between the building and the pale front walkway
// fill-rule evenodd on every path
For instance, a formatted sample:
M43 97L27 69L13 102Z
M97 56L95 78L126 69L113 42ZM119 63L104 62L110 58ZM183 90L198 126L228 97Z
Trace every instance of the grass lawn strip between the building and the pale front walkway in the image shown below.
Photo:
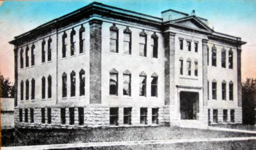
M130 127L107 129L11 129L2 130L2 146L48 145L59 143L142 141L256 136L256 134L188 129L179 127Z

